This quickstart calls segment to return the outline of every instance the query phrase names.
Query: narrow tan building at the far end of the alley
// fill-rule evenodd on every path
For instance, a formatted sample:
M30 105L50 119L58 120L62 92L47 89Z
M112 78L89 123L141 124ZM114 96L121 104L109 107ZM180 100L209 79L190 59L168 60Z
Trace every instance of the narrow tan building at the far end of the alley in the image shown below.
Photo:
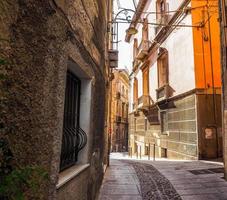
M129 74L125 69L115 69L112 81L111 150L128 149L128 93Z

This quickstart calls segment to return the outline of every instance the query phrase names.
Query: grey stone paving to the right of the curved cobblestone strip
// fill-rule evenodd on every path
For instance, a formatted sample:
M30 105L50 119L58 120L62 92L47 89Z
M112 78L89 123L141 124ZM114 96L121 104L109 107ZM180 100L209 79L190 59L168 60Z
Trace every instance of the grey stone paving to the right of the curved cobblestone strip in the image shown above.
M227 181L223 179L221 163L207 161L141 162L152 164L162 173L183 200L227 200Z

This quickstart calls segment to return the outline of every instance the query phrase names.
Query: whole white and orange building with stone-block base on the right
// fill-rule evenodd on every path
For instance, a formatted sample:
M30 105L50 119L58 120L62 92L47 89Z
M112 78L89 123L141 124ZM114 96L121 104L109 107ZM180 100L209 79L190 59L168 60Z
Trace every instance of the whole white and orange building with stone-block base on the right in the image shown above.
M133 154L153 155L155 144L158 157L222 156L218 18L216 0L139 1L130 25L138 33L126 35Z

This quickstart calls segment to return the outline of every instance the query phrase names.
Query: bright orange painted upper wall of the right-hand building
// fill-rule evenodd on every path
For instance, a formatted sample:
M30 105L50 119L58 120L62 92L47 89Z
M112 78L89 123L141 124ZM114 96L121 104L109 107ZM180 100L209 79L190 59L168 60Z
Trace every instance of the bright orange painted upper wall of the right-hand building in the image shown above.
M218 0L208 1L208 4L206 0L192 0L191 7L194 8L191 11L192 24L199 25L203 21L206 22L203 28L193 28L196 88L209 89L213 86L213 82L214 87L221 87ZM210 23L207 10L209 10ZM212 48L210 48L210 42ZM213 59L213 80L211 58Z

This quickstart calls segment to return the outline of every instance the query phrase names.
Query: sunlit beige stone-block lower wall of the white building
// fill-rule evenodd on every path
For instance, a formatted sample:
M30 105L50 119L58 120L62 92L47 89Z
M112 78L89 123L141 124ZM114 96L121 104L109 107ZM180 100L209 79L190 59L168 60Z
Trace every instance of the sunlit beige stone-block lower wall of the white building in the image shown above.
M161 132L160 125L150 125L148 122L145 131L145 116L139 112L136 117L136 138L141 138L142 154L145 153L144 146L150 144L151 155L153 155L153 144L155 144L155 154L157 157L163 156L164 149L167 150L167 157L173 159L197 159L197 121L195 95L191 95L174 101L175 108L165 110L167 127ZM133 119L131 117L130 122ZM130 125L130 134L133 127Z

